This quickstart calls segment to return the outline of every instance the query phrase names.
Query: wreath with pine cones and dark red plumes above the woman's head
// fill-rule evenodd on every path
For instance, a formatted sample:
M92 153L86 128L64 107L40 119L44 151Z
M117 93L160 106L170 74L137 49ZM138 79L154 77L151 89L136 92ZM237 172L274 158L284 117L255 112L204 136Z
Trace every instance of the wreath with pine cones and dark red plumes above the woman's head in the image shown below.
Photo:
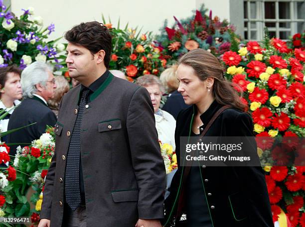
M212 11L206 15L204 5L195 15L181 20L174 16L175 24L167 27L165 20L161 34L157 36L156 45L162 49L161 54L172 64L189 50L202 48L216 56L230 49L229 30L235 28L227 20L221 21L218 16L212 18Z

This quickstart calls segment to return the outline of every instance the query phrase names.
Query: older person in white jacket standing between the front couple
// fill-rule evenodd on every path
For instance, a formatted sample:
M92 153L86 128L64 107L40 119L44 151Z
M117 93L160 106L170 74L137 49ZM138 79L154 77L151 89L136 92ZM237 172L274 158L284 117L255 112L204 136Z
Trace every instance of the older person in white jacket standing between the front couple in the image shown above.
M156 76L147 74L138 77L136 83L146 88L150 93L158 139L162 143L170 144L173 150L175 150L176 120L171 114L159 109L162 93L164 92L161 81Z

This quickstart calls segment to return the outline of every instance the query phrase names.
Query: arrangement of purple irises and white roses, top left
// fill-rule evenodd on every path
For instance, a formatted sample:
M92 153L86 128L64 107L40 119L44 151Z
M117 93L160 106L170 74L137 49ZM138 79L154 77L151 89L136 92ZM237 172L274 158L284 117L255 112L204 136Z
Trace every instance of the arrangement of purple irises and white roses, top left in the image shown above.
M55 25L43 28L42 17L33 17L32 7L22 10L17 17L0 0L0 67L16 64L24 69L33 61L52 61L57 69L62 68L65 62L60 59L64 56L58 53L65 50L65 45L56 44L60 38L46 41Z

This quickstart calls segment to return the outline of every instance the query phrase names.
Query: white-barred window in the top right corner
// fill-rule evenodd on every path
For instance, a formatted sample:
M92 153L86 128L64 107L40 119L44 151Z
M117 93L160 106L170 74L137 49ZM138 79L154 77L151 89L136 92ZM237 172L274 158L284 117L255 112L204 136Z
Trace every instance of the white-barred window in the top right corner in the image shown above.
M264 27L283 40L305 26L304 0L244 0L244 38L263 40Z

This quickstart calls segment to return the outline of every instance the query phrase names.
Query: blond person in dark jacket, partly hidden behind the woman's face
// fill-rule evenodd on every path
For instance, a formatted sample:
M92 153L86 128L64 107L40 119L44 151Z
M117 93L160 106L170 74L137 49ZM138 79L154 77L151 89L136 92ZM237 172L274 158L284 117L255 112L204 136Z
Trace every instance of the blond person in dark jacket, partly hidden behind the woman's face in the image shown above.
M175 119L181 110L190 107L184 103L181 94L177 91L179 83L176 78L176 70L177 65L172 65L160 75L160 81L169 94L162 110L173 115Z

